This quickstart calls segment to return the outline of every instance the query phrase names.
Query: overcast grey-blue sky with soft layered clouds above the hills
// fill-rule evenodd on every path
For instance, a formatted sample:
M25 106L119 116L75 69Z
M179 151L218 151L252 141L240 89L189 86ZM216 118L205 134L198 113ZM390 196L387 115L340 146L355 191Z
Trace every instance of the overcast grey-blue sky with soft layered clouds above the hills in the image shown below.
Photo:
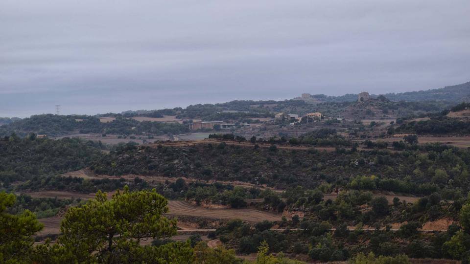
M469 0L0 0L0 116L442 88Z

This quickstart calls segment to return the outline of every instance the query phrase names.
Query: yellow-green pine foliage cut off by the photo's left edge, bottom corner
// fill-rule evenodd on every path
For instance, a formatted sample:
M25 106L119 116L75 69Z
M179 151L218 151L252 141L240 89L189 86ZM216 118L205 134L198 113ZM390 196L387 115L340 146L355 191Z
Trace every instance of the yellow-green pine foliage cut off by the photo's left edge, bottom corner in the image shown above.
M6 213L6 208L15 204L13 194L0 193L0 262L31 263L34 240L32 235L43 228L29 210L21 215Z

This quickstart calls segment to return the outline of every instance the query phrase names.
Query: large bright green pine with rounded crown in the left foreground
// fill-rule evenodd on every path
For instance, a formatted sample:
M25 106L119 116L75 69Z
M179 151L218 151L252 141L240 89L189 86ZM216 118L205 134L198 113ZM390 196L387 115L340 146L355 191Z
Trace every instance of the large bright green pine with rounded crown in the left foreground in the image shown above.
M129 252L141 250L137 248L141 240L176 234L176 220L163 217L168 211L167 203L155 189L129 192L126 186L111 200L98 191L95 199L67 211L59 244L78 262L90 257L101 263L122 262Z

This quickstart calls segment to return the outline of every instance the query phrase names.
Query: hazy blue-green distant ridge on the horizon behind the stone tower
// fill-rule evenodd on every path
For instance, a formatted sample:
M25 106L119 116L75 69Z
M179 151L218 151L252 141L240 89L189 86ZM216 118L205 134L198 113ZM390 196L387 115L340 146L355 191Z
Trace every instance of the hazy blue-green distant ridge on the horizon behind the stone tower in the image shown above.
M357 94L345 94L341 96L327 96L324 94L313 94L301 97L296 97L294 100L303 100L309 103L319 102L354 102L357 101ZM377 95L371 95L376 98ZM446 86L444 88L429 89L421 91L400 92L400 93L387 93L385 97L391 101L447 101L453 103L460 103L470 101L470 82L454 86Z

